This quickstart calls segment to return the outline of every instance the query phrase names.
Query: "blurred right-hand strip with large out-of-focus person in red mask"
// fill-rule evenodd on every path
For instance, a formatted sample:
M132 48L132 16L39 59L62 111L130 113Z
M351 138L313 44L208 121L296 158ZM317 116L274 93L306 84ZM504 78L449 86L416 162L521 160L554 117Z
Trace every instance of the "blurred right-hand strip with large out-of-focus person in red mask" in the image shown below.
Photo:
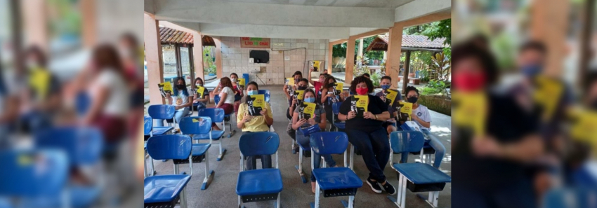
M597 207L596 1L452 2L452 207Z

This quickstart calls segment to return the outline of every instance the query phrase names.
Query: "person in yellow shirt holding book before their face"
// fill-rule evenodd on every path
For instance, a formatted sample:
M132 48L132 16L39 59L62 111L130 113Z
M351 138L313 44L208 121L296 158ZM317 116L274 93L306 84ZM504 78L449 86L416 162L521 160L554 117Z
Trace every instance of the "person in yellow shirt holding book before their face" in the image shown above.
M247 96L258 95L259 89L256 82L247 84ZM247 99L248 100L248 99ZM251 132L267 132L270 130L270 125L274 123L272 110L269 104L265 103L265 109L260 112L261 116L251 116L249 114L248 105L246 102L240 104L237 113L237 127L242 130L242 134L250 134ZM261 158L261 166L263 168L272 167L271 155L258 155L247 157L247 169L256 169L256 159Z

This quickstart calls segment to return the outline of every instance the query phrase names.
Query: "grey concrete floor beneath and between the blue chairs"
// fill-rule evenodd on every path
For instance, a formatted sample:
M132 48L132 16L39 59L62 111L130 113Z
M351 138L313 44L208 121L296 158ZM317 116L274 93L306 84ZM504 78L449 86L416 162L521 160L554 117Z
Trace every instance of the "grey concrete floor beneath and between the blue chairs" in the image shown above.
M284 190L282 190L282 207L309 207L309 202L315 200L315 195L311 193L310 183L302 183L294 165L298 164L298 155L291 153L291 138L286 133L288 120L286 118L285 110L287 109L286 97L282 92L282 86L269 86L263 87L262 90L271 90L271 105L274 115L273 127L276 132L280 135L280 170L282 172ZM445 116L440 113L431 111L431 132L437 135L442 141L444 146L447 148L446 157L440 169L451 174L451 140L450 140L450 116ZM232 125L235 125L234 121ZM236 127L235 127L236 128ZM221 141L225 144L225 148L228 150L222 161L217 162L216 157L218 155L218 146L211 146L209 149L209 168L214 169L215 177L209 182L209 187L206 190L200 190L202 181L204 179L204 163L195 164L194 173L191 181L188 183L187 199L189 207L237 207L237 195L235 193L237 176L239 173L240 160L238 150L238 139L242 134L237 130L237 133L232 138L224 138ZM228 131L227 131L228 132ZM394 155L394 160L399 160L400 155ZM409 157L409 162L414 162L415 158ZM275 157L273 157L275 162ZM342 155L334 155L338 165L343 165ZM304 158L303 169L310 174L310 158ZM261 164L261 162L257 162ZM362 157L355 155L355 172L356 174L365 181L369 174ZM259 166L259 165L258 165ZM161 160L155 160L155 167L157 174L172 174L173 166L171 161L162 162ZM181 172L189 172L188 165L181 165ZM388 177L388 181L394 186L398 186L398 179L396 172L391 167L386 166L384 171ZM446 187L439 196L439 207L450 207L451 206L451 183L447 183ZM374 193L367 183L363 183L362 188L358 189L358 193L355 197L355 207L395 207L393 203L388 200L386 193L377 194ZM338 207L341 208L343 205L340 200L346 200L347 197L321 197L321 207ZM274 207L274 202L252 202L245 204L247 207ZM429 205L421 200L419 197L410 191L406 195L407 207L429 207Z

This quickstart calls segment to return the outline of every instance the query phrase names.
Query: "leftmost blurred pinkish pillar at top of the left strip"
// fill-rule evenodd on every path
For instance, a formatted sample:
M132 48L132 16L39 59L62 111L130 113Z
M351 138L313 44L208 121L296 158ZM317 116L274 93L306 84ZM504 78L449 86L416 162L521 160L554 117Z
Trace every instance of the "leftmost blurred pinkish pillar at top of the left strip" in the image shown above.
M45 0L26 0L20 3L25 27L25 48L38 46L48 52L48 17Z

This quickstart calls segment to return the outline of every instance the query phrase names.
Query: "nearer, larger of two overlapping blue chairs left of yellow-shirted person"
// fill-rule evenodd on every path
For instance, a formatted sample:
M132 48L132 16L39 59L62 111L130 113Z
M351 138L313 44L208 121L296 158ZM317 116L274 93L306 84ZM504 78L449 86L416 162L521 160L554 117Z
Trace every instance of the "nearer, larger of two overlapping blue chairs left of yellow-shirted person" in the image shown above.
M209 117L188 117L181 119L181 123L179 124L181 127L181 132L186 135L196 135L196 134L210 134L211 137L211 118ZM197 140L196 140L197 141ZM214 175L214 170L209 169L209 159L207 158L207 151L211 147L211 139L209 139L209 143L204 144L192 144L192 151L191 155L193 157L192 161L195 163L199 163L203 161L205 158L205 179L203 179L203 185L201 186L201 190L205 190L207 186L207 181L209 180L209 176ZM174 160L177 162L177 160ZM188 162L185 160L184 162Z

